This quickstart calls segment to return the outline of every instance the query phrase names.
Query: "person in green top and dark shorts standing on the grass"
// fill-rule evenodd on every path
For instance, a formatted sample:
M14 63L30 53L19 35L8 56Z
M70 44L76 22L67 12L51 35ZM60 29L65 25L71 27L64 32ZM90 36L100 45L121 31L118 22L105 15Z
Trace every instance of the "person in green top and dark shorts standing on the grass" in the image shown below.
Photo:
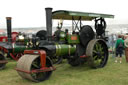
M115 60L115 62L117 62L118 55L119 55L120 63L122 63L122 54L123 54L123 50L124 50L124 40L122 39L121 35L118 35L118 39L116 40L116 44L115 44L115 50L116 50L116 60Z

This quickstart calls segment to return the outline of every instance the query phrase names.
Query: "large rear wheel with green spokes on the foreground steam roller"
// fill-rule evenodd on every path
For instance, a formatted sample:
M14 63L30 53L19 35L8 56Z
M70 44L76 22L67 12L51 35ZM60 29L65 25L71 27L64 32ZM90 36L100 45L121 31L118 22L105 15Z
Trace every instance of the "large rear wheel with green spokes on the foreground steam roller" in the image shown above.
M86 48L88 64L93 68L102 68L108 61L108 47L104 40L93 39Z

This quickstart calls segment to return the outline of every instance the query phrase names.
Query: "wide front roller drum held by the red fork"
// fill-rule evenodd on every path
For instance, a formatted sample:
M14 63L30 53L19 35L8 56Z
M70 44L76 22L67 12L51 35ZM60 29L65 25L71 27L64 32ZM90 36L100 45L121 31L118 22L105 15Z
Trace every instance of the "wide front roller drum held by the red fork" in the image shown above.
M46 58L46 68L52 67L52 63L50 59ZM41 69L40 56L39 55L30 55L25 54L22 56L17 62L17 70L18 74L25 79L40 82L48 79L52 74L52 70L50 71L39 71ZM34 72L33 70L37 71Z

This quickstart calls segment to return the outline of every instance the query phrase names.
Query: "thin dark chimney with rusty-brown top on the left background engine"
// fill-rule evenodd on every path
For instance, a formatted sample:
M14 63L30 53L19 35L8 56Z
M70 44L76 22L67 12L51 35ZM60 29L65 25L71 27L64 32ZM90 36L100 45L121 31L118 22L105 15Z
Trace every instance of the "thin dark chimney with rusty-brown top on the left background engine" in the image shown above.
M8 42L11 43L12 42L12 28L11 28L11 17L6 17L6 21L7 21L7 36L8 36Z

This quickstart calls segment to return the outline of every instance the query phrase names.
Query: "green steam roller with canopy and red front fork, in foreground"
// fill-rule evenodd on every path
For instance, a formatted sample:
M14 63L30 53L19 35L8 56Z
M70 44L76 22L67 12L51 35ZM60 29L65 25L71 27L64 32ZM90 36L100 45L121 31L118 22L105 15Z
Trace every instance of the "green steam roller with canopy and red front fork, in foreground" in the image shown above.
M92 68L103 68L107 64L108 47L104 18L114 18L114 15L67 10L52 12L52 8L45 10L47 31L37 33L40 40L45 41L41 40L36 48L25 50L24 56L17 62L16 70L22 78L34 82L48 79L56 70L51 61L54 56L65 57L71 66L83 65L87 62ZM61 22L58 23L58 30L55 31L57 35L52 36L52 19L72 20L71 33L60 30L63 25ZM83 20L94 20L95 32L91 26L83 25Z

